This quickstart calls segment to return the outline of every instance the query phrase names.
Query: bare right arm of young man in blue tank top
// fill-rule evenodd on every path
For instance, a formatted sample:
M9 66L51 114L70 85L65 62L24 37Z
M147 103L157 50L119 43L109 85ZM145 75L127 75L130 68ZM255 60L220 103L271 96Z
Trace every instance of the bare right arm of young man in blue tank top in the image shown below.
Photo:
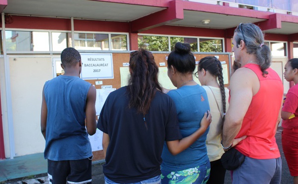
M96 133L96 110L95 110L96 90L91 85L86 99L86 128L90 136Z

